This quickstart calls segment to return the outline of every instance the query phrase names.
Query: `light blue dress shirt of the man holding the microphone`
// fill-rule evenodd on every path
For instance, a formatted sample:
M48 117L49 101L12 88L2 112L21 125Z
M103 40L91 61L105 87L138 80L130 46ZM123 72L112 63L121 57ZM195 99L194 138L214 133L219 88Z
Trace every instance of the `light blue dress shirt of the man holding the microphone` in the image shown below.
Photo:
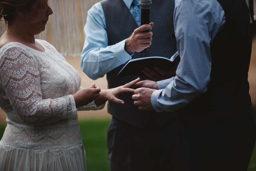
M123 0L133 13L133 0ZM114 16L113 16L114 17ZM106 20L101 3L96 3L89 11L84 26L85 42L81 54L81 69L91 79L96 80L114 68L125 64L132 54L124 50L125 40L108 46Z

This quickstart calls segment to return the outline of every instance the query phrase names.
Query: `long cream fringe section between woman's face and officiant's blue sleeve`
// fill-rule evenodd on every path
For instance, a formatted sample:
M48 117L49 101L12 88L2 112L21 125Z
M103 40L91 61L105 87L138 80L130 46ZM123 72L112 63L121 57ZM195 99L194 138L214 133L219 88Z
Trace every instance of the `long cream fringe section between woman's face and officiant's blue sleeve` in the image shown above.
M91 0L89 0L91 1ZM80 56L78 7L76 0L51 1L53 46L63 56Z

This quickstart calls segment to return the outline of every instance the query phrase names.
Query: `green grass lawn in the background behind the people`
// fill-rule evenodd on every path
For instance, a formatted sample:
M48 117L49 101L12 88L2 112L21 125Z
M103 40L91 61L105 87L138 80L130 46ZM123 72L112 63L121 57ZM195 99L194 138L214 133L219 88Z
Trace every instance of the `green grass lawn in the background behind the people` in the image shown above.
M253 107L256 120L256 106ZM107 129L110 119L80 121L83 144L86 151L86 164L89 171L110 171L108 166ZM0 125L0 137L5 125ZM256 170L256 144L247 171Z

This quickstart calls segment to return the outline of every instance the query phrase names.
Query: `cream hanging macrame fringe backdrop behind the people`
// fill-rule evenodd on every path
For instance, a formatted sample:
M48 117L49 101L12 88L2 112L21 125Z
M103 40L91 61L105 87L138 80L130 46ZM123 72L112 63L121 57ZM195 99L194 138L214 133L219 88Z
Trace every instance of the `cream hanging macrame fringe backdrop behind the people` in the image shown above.
M247 3L249 0L245 0ZM83 28L87 11L100 0L51 0L53 14L47 29L36 38L47 40L63 56L79 56L84 42ZM256 0L253 0L254 20L256 20ZM253 20L251 19L251 20ZM4 21L0 23L0 35L5 31Z

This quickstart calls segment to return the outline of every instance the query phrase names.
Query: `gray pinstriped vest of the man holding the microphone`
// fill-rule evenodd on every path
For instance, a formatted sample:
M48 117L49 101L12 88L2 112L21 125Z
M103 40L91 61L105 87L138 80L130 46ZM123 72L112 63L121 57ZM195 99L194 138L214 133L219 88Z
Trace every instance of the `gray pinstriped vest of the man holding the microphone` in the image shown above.
M121 42L128 38L133 31L138 28L133 16L123 0L104 0L101 1L102 8L106 19L106 30L108 34L108 46ZM150 7L150 22L154 23L152 29L153 40L148 52L142 54L135 52L132 56L135 58L143 58L149 56L163 56L171 58L177 51L176 43L170 36L173 20L174 0L154 0ZM119 71L125 64L113 69L107 74L108 88L122 86L136 78L148 80L143 76L127 76L116 78ZM113 102L108 102L108 113L117 119L129 123L131 125L144 128L150 119L162 126L174 117L176 112L161 112L156 111L140 111L138 106L133 104L132 93L126 93L121 96L125 104L119 105Z

